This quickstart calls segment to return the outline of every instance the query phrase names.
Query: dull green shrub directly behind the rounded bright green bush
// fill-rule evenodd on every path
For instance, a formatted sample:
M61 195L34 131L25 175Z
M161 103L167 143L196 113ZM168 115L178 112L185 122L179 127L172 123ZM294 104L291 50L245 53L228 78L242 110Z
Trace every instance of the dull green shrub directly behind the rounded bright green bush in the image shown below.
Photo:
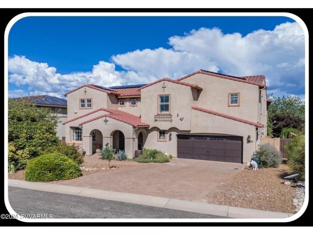
M41 155L50 153L64 154L65 156L76 162L78 165L80 165L84 162L84 158L81 153L78 152L78 148L79 147L75 146L74 144L68 145L65 142L62 142L58 146L45 148L44 151L42 151Z

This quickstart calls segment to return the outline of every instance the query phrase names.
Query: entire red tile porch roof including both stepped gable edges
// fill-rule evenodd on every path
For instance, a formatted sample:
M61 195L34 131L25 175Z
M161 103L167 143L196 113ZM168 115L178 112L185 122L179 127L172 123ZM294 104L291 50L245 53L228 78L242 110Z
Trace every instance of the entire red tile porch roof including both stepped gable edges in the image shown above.
M107 108L98 108L98 109L96 109L96 110L94 110L94 111L85 113L84 115L80 115L80 116L78 116L78 117L76 117L76 118L72 118L72 119L70 119L70 120L67 120L67 121L63 122L62 124L64 125L64 124L66 124L66 123L69 123L69 122L75 121L75 120L77 120L77 119L86 117L86 116L88 116L88 115L90 115L90 114L92 114L92 113L98 112L98 111L100 111L100 110L103 110L103 111L106 111L106 112L109 112L109 113L105 113L105 114L100 115L100 116L98 116L98 117L96 117L96 118L91 118L91 119L89 119L89 120L87 120L87 121L85 121L85 122L79 123L79 125L82 125L82 124L84 124L84 123L92 122L92 121L94 121L94 120L96 120L96 119L99 119L99 118L102 118L102 117L109 117L109 118L114 118L114 119L116 119L116 120L118 120L118 121L121 121L121 122L123 122L123 123L130 124L130 125L132 125L132 126L134 126L134 127L137 127L137 126L149 126L149 124L142 123L140 117L137 117L137 116L135 116L135 115L132 115L132 114L130 114L130 113L128 113L128 112L123 112L123 111L121 111L121 110L107 109Z

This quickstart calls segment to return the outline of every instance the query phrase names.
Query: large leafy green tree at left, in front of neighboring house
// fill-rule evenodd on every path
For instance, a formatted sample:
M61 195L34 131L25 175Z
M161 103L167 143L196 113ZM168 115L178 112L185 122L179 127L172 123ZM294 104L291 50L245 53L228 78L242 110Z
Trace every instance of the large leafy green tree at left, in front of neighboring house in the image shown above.
M16 170L24 169L42 149L56 146L58 118L49 108L38 108L24 101L8 100L8 160Z

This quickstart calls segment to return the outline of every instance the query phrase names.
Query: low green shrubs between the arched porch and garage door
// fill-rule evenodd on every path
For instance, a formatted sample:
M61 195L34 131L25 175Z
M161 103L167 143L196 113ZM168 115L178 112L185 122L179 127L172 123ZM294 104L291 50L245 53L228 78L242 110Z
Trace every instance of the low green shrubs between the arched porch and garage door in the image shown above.
M169 162L172 158L172 155L167 156L162 151L157 149L143 149L142 154L138 158L135 158L134 161L140 163L149 163L157 162L164 163Z

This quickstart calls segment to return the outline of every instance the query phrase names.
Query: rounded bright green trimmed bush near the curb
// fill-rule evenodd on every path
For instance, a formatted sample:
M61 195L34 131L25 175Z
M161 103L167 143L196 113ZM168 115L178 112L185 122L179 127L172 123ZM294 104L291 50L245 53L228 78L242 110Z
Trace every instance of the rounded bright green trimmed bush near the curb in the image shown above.
M80 167L64 154L45 154L29 161L25 171L25 180L46 182L69 180L82 175Z

